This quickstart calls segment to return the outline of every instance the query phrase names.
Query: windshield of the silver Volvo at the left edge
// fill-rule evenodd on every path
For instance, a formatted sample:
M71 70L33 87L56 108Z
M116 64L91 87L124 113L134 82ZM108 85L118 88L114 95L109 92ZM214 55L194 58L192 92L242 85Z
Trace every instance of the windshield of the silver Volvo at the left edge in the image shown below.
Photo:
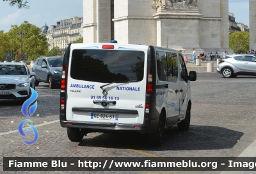
M28 75L24 65L0 64L0 75Z

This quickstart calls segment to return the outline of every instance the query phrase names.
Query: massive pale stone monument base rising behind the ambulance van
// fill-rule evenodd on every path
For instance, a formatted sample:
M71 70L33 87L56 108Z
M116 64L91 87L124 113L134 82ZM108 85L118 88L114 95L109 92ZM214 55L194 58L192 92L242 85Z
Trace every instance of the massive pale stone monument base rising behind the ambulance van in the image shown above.
M184 54L191 54L192 48L198 53L232 52L228 0L84 0L83 10L84 43L115 39Z

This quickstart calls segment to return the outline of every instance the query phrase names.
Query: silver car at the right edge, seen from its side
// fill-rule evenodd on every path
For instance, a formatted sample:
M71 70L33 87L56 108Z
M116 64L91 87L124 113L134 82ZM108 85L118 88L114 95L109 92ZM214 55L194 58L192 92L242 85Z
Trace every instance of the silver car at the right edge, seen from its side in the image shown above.
M237 75L256 76L256 57L252 54L228 55L219 61L217 72L225 78Z

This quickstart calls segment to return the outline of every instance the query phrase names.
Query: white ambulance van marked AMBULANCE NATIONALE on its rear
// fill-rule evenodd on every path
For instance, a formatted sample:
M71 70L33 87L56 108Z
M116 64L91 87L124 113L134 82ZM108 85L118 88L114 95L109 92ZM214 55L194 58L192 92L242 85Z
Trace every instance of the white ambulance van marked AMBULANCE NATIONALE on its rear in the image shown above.
M177 50L118 43L68 44L63 60L60 124L71 141L87 133L147 133L152 145L164 129L189 128L191 87Z

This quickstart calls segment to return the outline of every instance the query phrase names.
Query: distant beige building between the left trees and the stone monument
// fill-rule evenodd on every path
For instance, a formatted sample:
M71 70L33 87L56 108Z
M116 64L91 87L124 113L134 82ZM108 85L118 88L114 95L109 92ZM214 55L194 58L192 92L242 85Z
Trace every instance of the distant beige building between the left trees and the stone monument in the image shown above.
M73 17L60 20L56 25L50 27L45 24L40 32L46 34L49 50L53 47L64 50L67 43L73 43L83 37L82 25L83 17Z

